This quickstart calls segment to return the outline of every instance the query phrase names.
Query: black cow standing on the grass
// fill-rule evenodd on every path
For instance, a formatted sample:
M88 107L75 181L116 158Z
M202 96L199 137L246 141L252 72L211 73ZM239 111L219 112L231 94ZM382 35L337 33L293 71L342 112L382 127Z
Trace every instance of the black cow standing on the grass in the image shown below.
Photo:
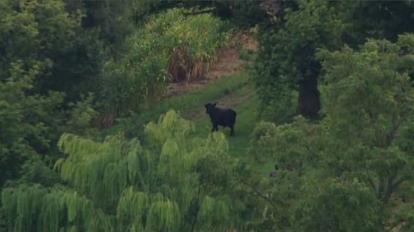
M236 123L236 111L233 109L221 109L215 107L217 103L207 103L204 105L206 107L206 114L210 116L211 123L213 123L213 131L218 131L217 125L222 125L224 127L230 127L231 132L230 136L234 136L234 123Z

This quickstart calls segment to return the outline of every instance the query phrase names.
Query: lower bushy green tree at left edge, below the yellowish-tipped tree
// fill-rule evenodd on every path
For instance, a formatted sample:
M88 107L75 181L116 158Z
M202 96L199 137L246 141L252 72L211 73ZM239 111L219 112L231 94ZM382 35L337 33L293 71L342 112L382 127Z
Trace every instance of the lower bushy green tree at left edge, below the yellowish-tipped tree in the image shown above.
M59 136L53 126L59 125L57 120L62 114L57 107L64 97L54 92L48 97L27 96L25 93L33 88L31 80L40 70L24 72L21 64L12 65L9 79L0 82L0 186L17 175L24 160L47 149L50 141Z

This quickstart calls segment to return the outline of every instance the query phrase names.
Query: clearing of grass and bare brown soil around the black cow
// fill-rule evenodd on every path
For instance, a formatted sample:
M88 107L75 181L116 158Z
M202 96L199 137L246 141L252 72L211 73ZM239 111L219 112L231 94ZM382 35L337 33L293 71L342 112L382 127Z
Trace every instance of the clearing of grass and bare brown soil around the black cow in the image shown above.
M231 108L237 112L234 126L235 137L229 137L229 128L219 126L219 132L223 132L229 140L230 155L234 157L247 155L250 134L252 134L258 120L259 99L254 86L249 82L245 65L248 65L255 49L254 40L244 38L239 50L236 47L222 50L217 63L210 68L207 74L213 78L197 80L190 84L183 82L171 84L168 97L150 106L148 110L134 116L134 118L141 124L145 124L148 121L157 121L159 115L174 109L180 112L183 118L195 123L194 136L207 137L212 125L204 104L217 102L217 107ZM119 129L120 124L115 124L104 129L103 134L114 134ZM269 163L264 167L257 167L257 169L266 176L273 165L273 163Z

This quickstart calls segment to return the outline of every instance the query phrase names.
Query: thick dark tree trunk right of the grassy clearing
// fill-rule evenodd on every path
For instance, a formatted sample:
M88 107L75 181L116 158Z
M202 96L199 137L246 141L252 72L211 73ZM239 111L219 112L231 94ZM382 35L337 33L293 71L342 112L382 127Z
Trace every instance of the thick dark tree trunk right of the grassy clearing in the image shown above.
M320 95L317 90L317 77L306 77L299 81L299 104L297 114L317 116L320 110Z

